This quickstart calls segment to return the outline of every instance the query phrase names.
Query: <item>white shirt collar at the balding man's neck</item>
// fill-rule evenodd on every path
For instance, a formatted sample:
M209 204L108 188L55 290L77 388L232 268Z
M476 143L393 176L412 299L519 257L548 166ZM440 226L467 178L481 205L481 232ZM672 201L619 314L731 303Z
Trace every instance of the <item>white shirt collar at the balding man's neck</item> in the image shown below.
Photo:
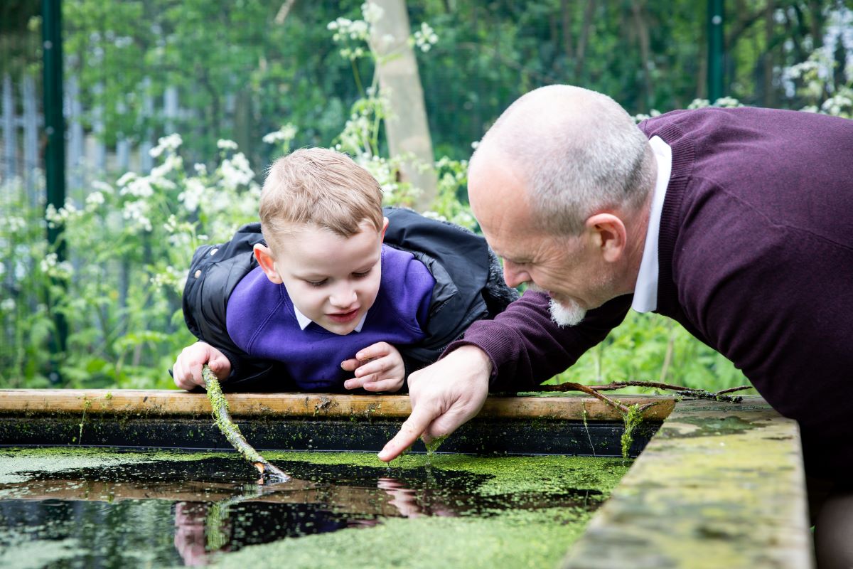
M651 312L658 308L658 234L660 232L660 214L664 210L666 187L672 173L672 148L660 136L648 141L652 145L654 158L658 162L658 177L654 183L652 210L648 215L646 244L640 261L640 272L634 287L634 300L631 308L637 312Z

